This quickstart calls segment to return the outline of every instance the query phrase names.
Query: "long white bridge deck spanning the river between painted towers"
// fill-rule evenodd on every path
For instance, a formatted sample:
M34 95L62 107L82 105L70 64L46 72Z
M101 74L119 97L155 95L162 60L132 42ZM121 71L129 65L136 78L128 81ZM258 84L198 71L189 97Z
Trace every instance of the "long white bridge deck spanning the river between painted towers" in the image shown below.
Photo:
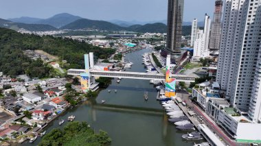
M84 73L84 69L69 69L68 75L80 75ZM137 73L128 71L90 71L91 76L94 77L121 77L128 79L141 79L141 80L165 80L166 76L159 73ZM188 75L172 75L178 82L194 82L194 77Z

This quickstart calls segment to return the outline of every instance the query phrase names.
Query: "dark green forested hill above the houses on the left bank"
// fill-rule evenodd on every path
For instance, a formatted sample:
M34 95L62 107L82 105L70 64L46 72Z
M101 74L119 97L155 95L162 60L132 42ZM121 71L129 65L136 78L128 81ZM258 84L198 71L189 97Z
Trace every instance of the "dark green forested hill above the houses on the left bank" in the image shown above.
M83 69L84 53L94 52L99 58L109 57L114 49L101 49L70 38L54 38L53 36L36 36L33 34L20 34L11 29L0 28L0 71L8 75L19 75L32 69L32 60L23 56L23 50L41 49L61 60L69 62L68 68ZM36 63L37 67L38 62ZM43 69L43 72L45 69ZM40 75L43 77L44 75Z

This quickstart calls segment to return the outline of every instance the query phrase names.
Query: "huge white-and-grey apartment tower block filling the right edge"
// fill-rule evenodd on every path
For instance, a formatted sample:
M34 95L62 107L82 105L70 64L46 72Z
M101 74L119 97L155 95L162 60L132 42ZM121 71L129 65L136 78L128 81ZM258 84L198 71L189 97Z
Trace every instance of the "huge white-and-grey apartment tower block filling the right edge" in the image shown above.
M216 80L230 103L261 121L261 0L226 0Z

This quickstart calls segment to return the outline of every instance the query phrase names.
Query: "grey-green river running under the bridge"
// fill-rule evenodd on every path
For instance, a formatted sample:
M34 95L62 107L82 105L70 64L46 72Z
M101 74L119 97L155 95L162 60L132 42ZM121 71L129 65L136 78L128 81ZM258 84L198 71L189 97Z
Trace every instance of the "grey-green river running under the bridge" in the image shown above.
M126 58L133 62L128 71L145 72L142 54L152 51L142 49L126 54ZM193 145L194 141L183 141L181 132L173 123L168 123L168 117L161 104L156 100L157 92L148 80L117 79L100 93L93 101L87 101L49 123L45 128L50 132L59 127L60 119L67 119L70 115L76 116L76 121L87 121L98 132L104 130L112 138L112 146L128 145ZM111 89L111 93L108 90ZM114 90L117 89L117 93ZM148 91L148 101L144 101L144 92ZM100 104L106 100L104 104ZM67 123L62 125L64 126ZM62 127L60 126L60 127ZM37 145L41 141L38 137L34 143L26 141L23 146Z

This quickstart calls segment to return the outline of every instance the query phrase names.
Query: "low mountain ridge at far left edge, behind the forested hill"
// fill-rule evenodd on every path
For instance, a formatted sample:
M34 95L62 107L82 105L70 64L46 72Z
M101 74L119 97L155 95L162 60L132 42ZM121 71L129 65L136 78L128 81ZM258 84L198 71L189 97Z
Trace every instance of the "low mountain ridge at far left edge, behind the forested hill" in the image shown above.
M25 23L14 23L5 19L0 19L0 27L5 27L9 29L27 29L32 32L43 32L43 31L52 31L56 30L56 27L51 25L42 25L42 24L25 24Z

